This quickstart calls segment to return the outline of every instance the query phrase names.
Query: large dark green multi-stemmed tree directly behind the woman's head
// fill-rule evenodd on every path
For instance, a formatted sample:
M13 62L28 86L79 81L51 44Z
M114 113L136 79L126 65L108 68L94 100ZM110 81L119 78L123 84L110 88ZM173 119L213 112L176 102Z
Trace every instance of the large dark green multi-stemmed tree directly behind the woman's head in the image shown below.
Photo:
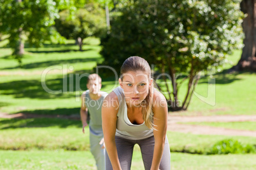
M142 56L162 75L172 110L187 110L197 74L221 65L242 36L239 1L144 0L120 4L118 11L110 34L101 39L102 64L120 70L127 57ZM180 105L178 92L186 79Z

